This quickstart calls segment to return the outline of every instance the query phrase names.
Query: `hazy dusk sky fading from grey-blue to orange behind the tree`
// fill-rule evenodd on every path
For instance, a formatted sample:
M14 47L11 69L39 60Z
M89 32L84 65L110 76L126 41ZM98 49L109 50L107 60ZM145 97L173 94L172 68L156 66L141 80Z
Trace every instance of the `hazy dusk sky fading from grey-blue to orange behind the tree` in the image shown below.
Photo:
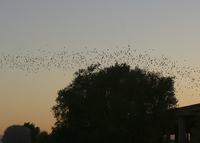
M151 63L149 57L157 60L152 68L169 63L158 71L178 77L179 106L199 103L199 5L198 0L0 1L0 134L24 122L50 133L58 91L80 67L102 59L111 64L116 53L133 65Z

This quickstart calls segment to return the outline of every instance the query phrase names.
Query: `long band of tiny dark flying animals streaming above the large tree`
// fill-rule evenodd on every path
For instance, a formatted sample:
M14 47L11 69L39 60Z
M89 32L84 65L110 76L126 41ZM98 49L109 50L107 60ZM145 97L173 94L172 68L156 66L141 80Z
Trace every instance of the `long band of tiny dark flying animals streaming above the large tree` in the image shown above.
M77 71L80 68L86 68L91 64L101 64L101 67L108 67L116 62L127 63L132 68L139 67L148 71L161 73L163 76L175 77L175 88L179 92L181 89L191 89L195 93L200 86L200 70L198 67L179 66L177 61L171 61L164 55L160 57L152 57L148 49L143 53L138 53L136 49L108 48L104 51L97 49L87 50L84 52L69 52L65 47L61 52L50 52L38 49L37 52L26 51L25 53L19 49L18 54L0 53L0 74L5 73L8 69L20 69L25 75L52 69ZM65 75L65 74L63 74ZM186 83L187 85L183 85ZM200 95L200 94L199 94Z

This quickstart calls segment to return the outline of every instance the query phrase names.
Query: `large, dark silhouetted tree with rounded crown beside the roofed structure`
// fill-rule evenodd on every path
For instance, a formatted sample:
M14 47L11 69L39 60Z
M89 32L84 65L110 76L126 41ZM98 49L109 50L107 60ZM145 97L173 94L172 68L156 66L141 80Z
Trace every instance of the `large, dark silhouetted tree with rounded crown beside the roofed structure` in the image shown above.
M174 115L166 111L177 104L173 77L117 63L91 65L74 76L52 108L54 134L70 132L65 142L160 142Z

